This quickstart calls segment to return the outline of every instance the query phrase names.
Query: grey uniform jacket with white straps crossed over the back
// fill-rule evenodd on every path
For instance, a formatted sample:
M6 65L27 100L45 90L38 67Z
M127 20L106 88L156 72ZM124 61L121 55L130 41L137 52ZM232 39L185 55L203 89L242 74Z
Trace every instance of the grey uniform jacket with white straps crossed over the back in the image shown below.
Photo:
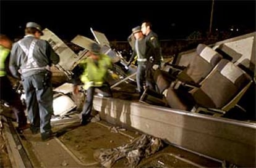
M49 70L51 64L57 63L59 55L54 52L48 41L27 35L12 46L9 69L15 78L20 78L20 73L22 76L30 76Z

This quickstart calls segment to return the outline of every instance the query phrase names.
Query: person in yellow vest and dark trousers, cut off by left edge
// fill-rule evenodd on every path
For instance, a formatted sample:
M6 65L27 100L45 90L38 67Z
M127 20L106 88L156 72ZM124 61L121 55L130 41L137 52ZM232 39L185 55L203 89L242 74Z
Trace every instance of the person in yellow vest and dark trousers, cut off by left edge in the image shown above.
M18 123L17 129L20 131L27 128L27 117L20 96L12 89L11 81L7 77L7 58L11 48L11 39L4 34L0 34L0 100L7 102L14 111Z

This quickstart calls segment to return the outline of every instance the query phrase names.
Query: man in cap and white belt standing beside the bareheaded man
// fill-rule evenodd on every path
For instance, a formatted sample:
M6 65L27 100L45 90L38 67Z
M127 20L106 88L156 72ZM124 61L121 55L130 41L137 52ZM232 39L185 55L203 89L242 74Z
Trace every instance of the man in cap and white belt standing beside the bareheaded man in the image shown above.
M135 38L134 46L132 46L134 52L132 53L132 56L130 57L130 60L128 62L128 65L134 60L134 57L137 55L137 74L136 74L136 82L137 82L137 89L139 91L140 96L144 92L143 88L143 82L146 81L146 86L150 86L149 80L145 78L146 73L146 65L148 62L148 58L146 56L146 41L145 36L142 34L141 27L137 26L132 29L132 35Z

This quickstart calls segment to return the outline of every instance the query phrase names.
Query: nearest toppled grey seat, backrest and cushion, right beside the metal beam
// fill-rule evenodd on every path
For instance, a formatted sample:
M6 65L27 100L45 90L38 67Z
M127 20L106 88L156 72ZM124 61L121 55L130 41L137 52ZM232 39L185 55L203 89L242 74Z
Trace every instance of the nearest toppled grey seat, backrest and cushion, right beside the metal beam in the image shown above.
M252 78L249 74L229 60L222 59L207 78L200 82L200 88L192 89L188 92L189 95L184 95L178 94L180 90L169 87L166 100L171 108L192 110L194 107L193 110L198 111L198 107L202 107L225 113L236 106L250 84Z

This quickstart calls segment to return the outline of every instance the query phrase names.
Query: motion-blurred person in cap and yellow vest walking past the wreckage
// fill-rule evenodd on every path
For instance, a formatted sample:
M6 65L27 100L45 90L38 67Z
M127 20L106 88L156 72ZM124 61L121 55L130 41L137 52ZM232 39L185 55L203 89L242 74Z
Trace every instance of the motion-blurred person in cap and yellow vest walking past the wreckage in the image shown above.
M92 43L88 57L82 60L73 70L74 94L79 93L79 79L83 83L83 89L86 90L86 99L81 112L82 125L90 122L95 88L101 90L103 97L112 97L112 92L106 78L108 78L109 70L113 68L113 64L111 58L108 55L101 54L100 50L99 44ZM112 77L114 79L118 78L115 73L112 73Z

